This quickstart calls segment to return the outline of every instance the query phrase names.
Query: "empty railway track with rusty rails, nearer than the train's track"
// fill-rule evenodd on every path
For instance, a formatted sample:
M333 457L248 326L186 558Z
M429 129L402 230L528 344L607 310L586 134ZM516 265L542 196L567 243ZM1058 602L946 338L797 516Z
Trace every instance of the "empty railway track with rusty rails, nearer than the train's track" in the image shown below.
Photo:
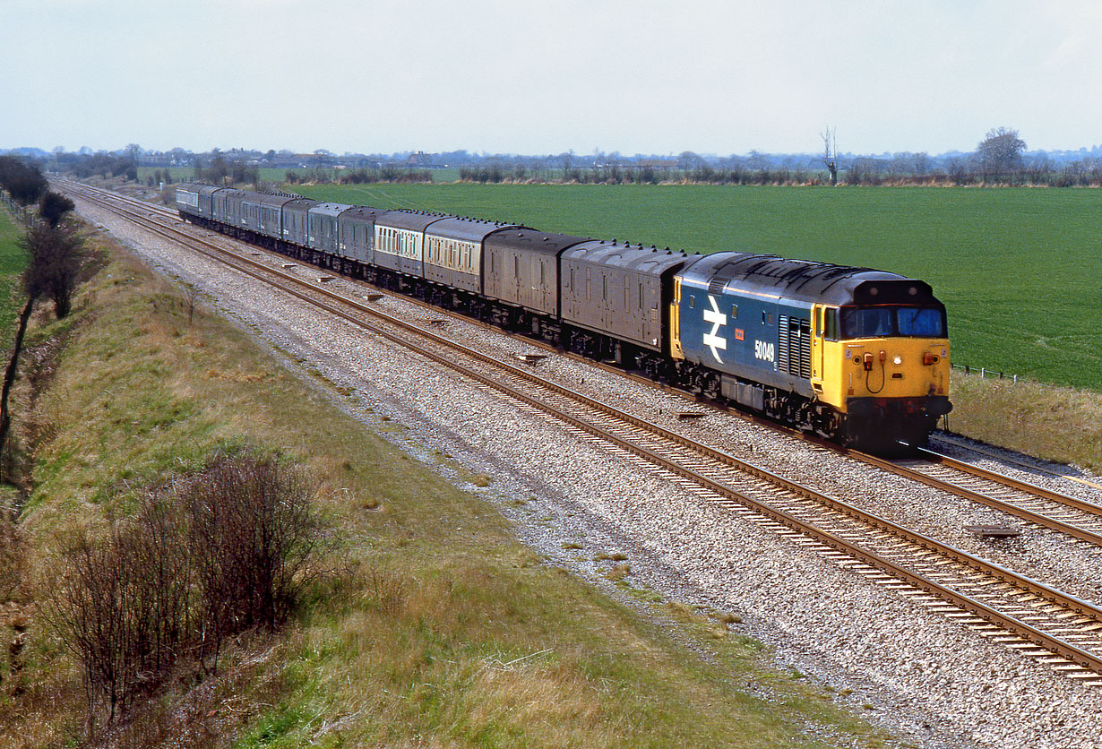
M150 231L219 262L229 262L238 271L327 314L461 372L522 409L562 422L630 460L647 464L696 496L791 536L838 565L908 596L980 636L1037 658L1072 679L1102 685L1102 609L1090 601L550 382L531 367L495 359L360 300L283 273L249 257L256 252L227 250L195 236L195 231L182 230L182 221L170 209L136 206L140 202L117 195L105 198L83 185L64 187L83 199L121 213ZM927 478L923 482L941 481Z

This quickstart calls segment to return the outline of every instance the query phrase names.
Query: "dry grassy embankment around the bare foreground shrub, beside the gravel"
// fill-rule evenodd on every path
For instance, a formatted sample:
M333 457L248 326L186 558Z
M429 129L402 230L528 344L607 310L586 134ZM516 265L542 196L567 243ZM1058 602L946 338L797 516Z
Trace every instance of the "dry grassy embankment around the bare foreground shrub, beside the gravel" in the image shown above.
M217 677L153 701L120 746L883 742L737 628L673 603L640 603L645 616L548 566L491 504L338 412L324 382L304 383L237 328L203 311L190 322L181 293L125 254L67 321L40 316L32 343L63 336L37 378L29 582L3 637L17 618L30 629L18 673L0 654L0 746L72 746L83 731L79 674L33 607L67 534L242 442L317 477L339 572L281 634L238 642Z

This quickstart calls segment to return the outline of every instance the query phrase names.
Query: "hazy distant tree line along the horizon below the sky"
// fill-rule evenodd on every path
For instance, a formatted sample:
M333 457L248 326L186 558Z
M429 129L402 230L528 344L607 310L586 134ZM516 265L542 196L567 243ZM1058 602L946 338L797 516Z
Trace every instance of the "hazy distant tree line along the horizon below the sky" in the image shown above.
M714 156L683 151L678 155L623 155L618 152L580 155L573 151L549 155L404 152L396 154L337 155L325 149L313 153L218 149L192 153L144 151L131 143L115 153L41 152L46 169L75 176L99 174L137 178L137 165L154 166L160 173L145 182L171 183L170 165L192 166L193 178L220 185L259 187L261 167L284 169L289 184L374 182L432 182L442 167L476 183L658 184L704 183L722 185L1042 185L1052 187L1102 186L1102 148L1088 151L1039 151L1029 153L1014 129L992 129L972 152L941 155L839 153L836 133L820 133L824 152L771 154L750 151L746 155Z

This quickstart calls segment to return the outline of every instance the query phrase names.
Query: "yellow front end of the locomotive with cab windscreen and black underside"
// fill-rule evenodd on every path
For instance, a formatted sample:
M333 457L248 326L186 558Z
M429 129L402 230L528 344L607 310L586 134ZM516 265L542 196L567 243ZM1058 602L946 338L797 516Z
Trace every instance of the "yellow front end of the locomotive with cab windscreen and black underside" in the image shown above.
M812 308L812 389L847 443L882 454L926 444L952 410L944 306L889 285L861 290L856 304Z

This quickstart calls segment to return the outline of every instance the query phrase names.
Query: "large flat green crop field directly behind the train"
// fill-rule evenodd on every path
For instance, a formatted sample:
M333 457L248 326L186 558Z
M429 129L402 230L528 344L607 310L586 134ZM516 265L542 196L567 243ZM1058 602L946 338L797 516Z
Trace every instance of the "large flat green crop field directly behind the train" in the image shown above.
M929 282L953 361L1102 390L1102 191L711 185L293 185L689 252L768 252Z

